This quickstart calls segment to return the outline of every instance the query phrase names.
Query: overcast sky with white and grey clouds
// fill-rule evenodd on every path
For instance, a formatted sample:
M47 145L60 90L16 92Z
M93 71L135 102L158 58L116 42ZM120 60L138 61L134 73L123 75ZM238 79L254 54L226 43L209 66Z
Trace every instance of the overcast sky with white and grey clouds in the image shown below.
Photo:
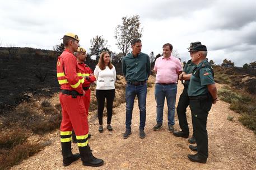
M139 15L143 27L142 52L162 52L171 43L181 60L188 46L201 41L208 58L236 66L256 60L256 1L2 1L1 46L53 49L64 34L73 32L89 51L90 40L103 35L110 50L114 29L123 16Z

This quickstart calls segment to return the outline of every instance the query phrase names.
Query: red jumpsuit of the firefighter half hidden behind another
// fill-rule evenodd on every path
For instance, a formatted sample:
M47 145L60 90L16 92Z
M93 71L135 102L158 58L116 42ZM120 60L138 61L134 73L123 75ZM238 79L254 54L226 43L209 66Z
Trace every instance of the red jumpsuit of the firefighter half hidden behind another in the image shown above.
M96 77L89 65L86 65L85 63L78 63L78 68L80 68L83 77L88 77L87 79L84 79L82 84L83 89L86 91L86 94L83 96L83 103L85 104L86 115L88 116L91 101L91 90L89 87L92 82L96 81Z

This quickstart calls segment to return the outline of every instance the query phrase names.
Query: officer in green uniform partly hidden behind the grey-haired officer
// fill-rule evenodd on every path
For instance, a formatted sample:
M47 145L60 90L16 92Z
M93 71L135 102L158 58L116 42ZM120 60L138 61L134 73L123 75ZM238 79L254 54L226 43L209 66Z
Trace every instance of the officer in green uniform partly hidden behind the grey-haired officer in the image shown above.
M193 46L198 44L201 44L201 42L190 43L188 50L192 50ZM190 56L191 55L192 53L190 54ZM189 84L190 77L192 75L192 71L195 67L196 67L196 64L192 63L192 60L188 60L187 64L183 69L183 72L179 75L180 81L185 81L185 82L183 83L184 89L180 95L179 103L177 106L177 115L178 115L181 131L174 131L173 134L176 137L188 138L189 136L188 121L186 116L187 107L189 105L188 84ZM194 133L192 135L192 138L190 138L188 141L191 144L196 143L196 139L194 138Z

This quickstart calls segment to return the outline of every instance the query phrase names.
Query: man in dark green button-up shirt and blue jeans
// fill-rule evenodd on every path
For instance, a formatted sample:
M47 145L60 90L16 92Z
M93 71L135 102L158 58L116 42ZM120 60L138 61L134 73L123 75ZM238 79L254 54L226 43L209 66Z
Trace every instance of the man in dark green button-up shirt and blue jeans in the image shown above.
M122 70L127 81L125 88L126 117L125 133L126 139L132 133L132 110L135 96L139 103L139 138L145 138L144 132L146 123L146 98L147 98L147 79L150 76L150 58L147 54L141 53L141 40L132 40L132 52L127 54L122 60Z

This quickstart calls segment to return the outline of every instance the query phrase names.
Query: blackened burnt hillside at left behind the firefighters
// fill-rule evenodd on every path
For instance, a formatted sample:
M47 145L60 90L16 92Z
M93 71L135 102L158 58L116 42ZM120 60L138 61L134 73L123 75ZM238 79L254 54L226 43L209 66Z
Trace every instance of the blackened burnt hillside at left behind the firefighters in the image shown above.
M31 97L59 92L57 58L52 50L0 47L0 114ZM86 64L94 70L96 61L88 60ZM114 65L121 74L121 64Z

